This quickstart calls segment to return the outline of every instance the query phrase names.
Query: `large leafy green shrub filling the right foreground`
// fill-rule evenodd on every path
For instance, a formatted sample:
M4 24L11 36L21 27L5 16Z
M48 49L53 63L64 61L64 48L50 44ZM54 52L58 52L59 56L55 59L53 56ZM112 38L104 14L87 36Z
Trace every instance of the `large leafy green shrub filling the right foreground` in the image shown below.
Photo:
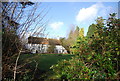
M120 19L113 13L107 20L100 17L96 22L91 38L78 37L73 46L77 49L76 56L52 66L56 76L93 80L120 78Z

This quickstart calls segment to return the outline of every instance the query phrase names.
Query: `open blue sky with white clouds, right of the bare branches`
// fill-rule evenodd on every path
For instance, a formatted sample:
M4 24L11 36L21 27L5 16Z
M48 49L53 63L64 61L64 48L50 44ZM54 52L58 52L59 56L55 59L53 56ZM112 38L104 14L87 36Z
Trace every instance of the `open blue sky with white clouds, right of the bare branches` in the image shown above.
M108 18L109 13L118 12L117 2L43 2L43 5L50 7L47 14L50 38L67 37L73 26L84 28L86 36L97 17Z

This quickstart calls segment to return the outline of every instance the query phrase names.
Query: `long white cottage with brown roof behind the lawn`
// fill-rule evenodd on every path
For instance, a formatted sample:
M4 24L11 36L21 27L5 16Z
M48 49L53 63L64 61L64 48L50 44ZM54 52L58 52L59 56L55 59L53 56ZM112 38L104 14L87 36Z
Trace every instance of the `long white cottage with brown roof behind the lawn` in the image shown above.
M47 39L41 37L28 37L28 43L26 45L32 53L48 53L48 48L51 45L55 45L54 53L67 53L67 50L61 45L57 39Z

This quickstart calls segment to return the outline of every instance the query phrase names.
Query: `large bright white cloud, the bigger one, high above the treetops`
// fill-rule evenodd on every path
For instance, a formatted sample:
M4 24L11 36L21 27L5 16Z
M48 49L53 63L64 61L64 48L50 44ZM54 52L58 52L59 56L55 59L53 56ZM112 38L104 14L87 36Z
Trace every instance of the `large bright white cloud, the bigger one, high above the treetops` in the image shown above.
M86 20L89 21L91 19L94 19L97 16L98 11L101 7L103 7L103 5L101 3L97 3L88 8L80 9L76 16L76 21L81 23Z

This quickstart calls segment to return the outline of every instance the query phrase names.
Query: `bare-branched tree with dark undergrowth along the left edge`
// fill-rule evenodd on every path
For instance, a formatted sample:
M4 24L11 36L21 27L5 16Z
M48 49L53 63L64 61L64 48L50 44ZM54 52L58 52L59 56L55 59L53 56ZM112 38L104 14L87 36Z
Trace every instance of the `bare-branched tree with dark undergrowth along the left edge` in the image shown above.
M11 78L15 81L18 79L16 74L21 74L22 76L26 73L21 72L21 68L25 64L18 65L18 60L23 50L22 39L28 31L32 32L31 35L44 31L45 23L42 23L42 20L47 12L41 15L44 11L43 9L36 14L38 3L3 2L2 4L3 80ZM30 10L27 9L29 6L31 6ZM39 27L37 27L38 25Z

